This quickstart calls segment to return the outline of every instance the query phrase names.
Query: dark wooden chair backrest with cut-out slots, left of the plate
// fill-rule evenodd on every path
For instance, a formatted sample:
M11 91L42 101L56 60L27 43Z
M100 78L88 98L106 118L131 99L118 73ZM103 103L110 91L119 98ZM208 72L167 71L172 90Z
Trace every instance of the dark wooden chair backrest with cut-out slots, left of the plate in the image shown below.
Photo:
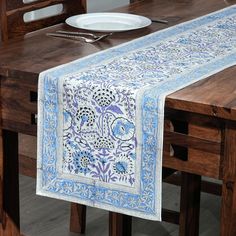
M53 6L58 6L61 11L37 20L25 20L26 14L31 14L32 11L37 13L38 10L41 10L50 14L52 11L50 8ZM62 23L69 16L85 12L86 0L27 0L27 2L23 2L23 0L0 0L2 41Z

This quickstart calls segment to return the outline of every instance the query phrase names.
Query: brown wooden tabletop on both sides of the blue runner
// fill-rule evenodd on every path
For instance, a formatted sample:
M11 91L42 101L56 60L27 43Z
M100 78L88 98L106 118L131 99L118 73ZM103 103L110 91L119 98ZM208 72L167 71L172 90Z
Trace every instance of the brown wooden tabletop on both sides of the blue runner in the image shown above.
M9 41L0 47L0 75L21 80L37 80L48 68L130 41L198 16L236 4L236 0L144 0L117 9L150 18L162 18L169 24L116 33L96 44L52 38L46 32L71 29L65 24L32 33L24 39ZM236 120L236 66L169 95L166 106L184 111Z

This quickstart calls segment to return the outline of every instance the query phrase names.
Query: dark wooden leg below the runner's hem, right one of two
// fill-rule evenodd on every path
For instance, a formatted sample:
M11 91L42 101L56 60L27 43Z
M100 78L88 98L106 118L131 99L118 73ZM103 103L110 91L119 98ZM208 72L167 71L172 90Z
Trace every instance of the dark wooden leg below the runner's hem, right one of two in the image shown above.
M109 236L131 236L132 217L109 212Z

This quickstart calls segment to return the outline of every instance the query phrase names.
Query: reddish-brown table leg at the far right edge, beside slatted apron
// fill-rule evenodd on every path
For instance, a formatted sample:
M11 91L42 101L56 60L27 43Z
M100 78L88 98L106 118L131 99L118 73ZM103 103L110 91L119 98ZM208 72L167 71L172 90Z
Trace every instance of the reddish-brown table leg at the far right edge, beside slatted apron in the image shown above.
M225 128L221 236L236 235L236 125Z

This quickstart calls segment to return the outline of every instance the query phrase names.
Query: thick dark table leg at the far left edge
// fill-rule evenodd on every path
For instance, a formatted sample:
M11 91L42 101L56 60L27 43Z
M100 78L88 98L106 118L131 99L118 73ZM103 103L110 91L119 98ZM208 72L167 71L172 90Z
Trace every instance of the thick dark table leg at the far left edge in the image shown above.
M1 228L2 236L20 235L18 135L1 130ZM3 153L2 153L3 151Z

